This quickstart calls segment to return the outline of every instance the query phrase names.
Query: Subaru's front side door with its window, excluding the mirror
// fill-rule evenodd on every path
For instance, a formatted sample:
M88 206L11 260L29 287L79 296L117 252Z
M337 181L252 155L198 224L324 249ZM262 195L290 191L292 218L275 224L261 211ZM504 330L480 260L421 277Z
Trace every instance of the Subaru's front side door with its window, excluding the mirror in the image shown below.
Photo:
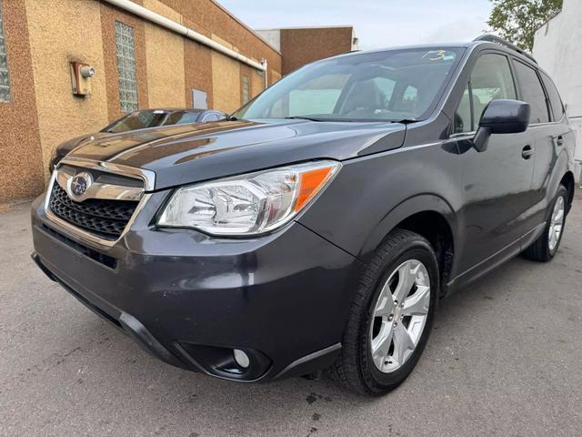
M531 134L492 135L487 151L481 153L472 143L487 104L516 98L508 56L492 51L479 56L455 117L465 205L460 211L464 223L460 272L487 260L495 264L517 250L518 240L527 233L534 171Z

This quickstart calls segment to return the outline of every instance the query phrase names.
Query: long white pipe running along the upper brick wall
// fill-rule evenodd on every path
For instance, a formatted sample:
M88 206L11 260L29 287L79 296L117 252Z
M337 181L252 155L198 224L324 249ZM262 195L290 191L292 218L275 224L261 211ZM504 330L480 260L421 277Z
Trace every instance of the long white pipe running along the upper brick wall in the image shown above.
M241 55L240 53L237 53L236 51L231 50L230 48L217 43L216 41L210 39L207 36L199 34L198 32L186 27L186 25L180 25L179 23L176 23L176 21L170 20L169 18L166 18L163 15L156 14L155 12L150 11L144 6L136 5L131 0L103 0L103 1L110 5L114 5L120 9L123 9L131 14L140 16L147 21L156 23L156 25L166 27L166 29L176 32L176 34L185 36L188 39L196 41L196 43L200 43L204 46L210 47L213 50L216 50L216 52L232 57L233 59L236 59L237 61L242 62L247 66L252 66L257 70L263 71L265 72L265 76L267 76L266 61L264 61L264 63L258 63L253 59L250 59L249 57ZM265 85L267 85L267 80L265 80Z

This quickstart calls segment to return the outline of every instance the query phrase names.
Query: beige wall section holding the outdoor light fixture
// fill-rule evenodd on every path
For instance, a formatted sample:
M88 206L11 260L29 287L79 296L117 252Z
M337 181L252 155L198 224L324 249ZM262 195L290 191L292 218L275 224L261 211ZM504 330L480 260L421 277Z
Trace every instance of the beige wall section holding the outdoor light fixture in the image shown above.
M93 0L51 0L49 10L45 2L25 3L43 168L47 172L51 153L59 143L95 132L107 123L101 14L99 3ZM73 96L70 61L95 66L91 96Z

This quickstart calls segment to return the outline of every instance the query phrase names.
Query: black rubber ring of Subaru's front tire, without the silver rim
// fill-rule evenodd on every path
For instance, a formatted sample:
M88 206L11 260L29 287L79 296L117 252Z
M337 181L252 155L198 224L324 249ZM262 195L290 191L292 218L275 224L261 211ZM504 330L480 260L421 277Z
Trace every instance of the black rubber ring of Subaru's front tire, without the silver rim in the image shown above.
M420 356L422 355L422 351L426 346L426 341L428 340L437 308L439 276L437 258L434 251L424 239L406 241L403 247L398 249L399 250L395 249L391 253L387 253L386 257L383 259L383 265L379 269L379 271L382 273L378 276L374 287L370 290L366 304L366 312L363 315L363 319L360 324L360 371L364 381L366 381L368 389L377 394L383 394L386 391L396 388L401 382L406 380L408 374L415 368L416 362L419 360ZM421 261L428 271L431 296L426 325L421 338L416 345L415 351L407 359L405 364L394 372L382 373L381 371L377 370L376 365L372 360L372 354L370 351L369 330L370 323L372 322L372 312L382 289L382 285L388 276L394 271L394 269L396 269L396 267L400 266L408 259L416 259Z

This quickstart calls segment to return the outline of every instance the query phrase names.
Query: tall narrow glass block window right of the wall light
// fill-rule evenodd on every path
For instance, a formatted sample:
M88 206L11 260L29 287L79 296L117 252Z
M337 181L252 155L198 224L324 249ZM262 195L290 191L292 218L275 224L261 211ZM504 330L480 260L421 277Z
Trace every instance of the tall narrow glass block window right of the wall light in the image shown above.
M119 104L123 112L133 112L137 110L134 28L116 21L115 46L119 74Z

